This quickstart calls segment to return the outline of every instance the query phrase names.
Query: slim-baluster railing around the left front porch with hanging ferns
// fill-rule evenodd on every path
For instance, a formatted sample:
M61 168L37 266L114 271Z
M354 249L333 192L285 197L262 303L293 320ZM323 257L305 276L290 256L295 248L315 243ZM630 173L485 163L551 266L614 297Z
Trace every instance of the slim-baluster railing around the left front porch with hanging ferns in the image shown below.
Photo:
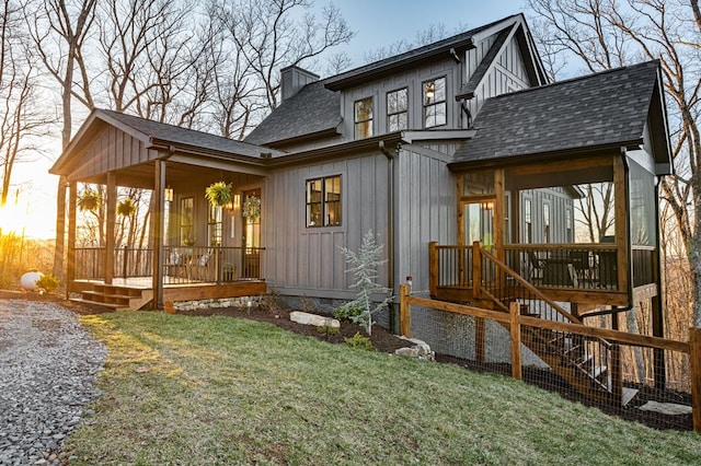
M102 280L104 247L77 247L78 280ZM166 283L200 281L232 282L262 279L263 247L172 246L163 249L163 279ZM153 249L119 247L114 249L115 278L150 277Z

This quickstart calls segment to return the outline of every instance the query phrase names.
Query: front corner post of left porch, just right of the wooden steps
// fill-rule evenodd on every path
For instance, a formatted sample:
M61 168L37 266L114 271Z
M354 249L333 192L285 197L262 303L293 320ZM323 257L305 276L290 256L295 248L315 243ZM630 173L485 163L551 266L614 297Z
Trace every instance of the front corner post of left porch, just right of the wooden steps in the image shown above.
M151 241L153 247L153 264L151 277L153 279L153 300L156 308L163 308L163 229L164 219L164 198L163 188L165 187L165 161L157 160L153 177L153 199L151 202Z

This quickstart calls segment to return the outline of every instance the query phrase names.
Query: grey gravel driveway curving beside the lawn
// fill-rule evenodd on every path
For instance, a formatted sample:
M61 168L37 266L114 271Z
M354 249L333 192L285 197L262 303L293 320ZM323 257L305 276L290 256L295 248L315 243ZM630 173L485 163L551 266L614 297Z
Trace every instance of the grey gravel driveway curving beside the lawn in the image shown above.
M76 314L0 300L0 465L58 465L57 452L100 392L106 356Z

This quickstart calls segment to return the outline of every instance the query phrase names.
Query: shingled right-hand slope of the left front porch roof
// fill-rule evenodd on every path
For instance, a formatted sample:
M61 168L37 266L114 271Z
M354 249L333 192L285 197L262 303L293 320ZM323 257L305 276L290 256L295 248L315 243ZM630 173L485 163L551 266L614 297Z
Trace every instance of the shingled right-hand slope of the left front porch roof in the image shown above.
M102 114L108 118L113 118L120 124L133 128L135 131L145 135L151 140L158 140L174 145L188 145L217 152L248 155L254 158L260 158L261 152L269 152L269 149L261 148L249 142L222 138L220 136L210 135L208 132L181 128L174 125L153 121L133 115L122 114L118 112L101 108L95 110L95 113L97 116Z

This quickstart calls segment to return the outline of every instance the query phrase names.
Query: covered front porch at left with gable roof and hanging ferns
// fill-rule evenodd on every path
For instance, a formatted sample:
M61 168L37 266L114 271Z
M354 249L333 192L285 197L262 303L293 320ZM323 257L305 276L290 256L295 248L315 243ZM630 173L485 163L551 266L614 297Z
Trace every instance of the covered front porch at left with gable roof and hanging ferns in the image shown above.
M264 163L252 144L94 110L51 168L68 188L67 291L116 308L264 293ZM227 202L206 198L212 184Z

